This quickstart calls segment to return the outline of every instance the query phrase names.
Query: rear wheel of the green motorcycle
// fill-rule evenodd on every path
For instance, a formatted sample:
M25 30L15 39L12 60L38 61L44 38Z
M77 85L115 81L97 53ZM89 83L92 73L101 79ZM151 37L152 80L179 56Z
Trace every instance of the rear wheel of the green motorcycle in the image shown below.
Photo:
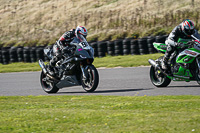
M160 73L159 70L155 70L155 68L151 66L150 79L151 79L152 84L156 87L167 87L170 84L171 79L159 73Z

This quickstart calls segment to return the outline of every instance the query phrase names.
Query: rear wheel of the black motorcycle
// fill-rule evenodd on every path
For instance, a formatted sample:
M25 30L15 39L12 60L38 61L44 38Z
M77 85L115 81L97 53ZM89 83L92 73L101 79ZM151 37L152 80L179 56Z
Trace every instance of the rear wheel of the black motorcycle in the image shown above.
M40 84L46 93L56 93L59 90L59 88L56 87L56 83L53 80L49 80L43 71L40 75Z

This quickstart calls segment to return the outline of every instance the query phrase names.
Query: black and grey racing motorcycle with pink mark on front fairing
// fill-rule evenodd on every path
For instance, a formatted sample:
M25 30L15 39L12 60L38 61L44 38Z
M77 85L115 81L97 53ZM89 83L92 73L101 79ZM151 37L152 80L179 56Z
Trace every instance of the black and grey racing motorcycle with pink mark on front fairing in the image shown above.
M96 90L99 83L99 74L92 64L94 61L94 50L86 39L80 35L71 42L71 54L69 51L62 54L62 59L55 65L55 76L48 72L48 63L39 60L42 68L40 83L47 93L56 93L64 87L82 85L87 92ZM53 50L45 48L44 53L49 58L53 57ZM65 51L65 50L63 50Z

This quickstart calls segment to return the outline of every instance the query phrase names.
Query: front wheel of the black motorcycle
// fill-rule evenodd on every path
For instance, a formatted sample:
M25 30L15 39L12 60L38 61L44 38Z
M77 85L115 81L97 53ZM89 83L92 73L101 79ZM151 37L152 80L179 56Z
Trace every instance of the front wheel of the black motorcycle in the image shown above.
M88 65L87 72L88 76L86 79L83 79L83 76L81 76L81 84L85 91L93 92L99 84L99 74L93 65Z

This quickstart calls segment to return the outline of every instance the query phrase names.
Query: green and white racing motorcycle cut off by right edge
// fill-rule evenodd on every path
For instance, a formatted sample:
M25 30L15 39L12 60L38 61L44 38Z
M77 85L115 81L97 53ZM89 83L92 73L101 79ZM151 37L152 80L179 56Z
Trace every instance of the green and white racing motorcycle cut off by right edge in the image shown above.
M178 42L186 44L185 48L176 48L171 55L168 71L161 68L163 56L157 60L149 59L151 65L150 79L156 87L167 87L173 81L197 81L200 85L200 41L192 36L192 40L179 39ZM154 47L161 53L165 53L167 45L153 43Z

